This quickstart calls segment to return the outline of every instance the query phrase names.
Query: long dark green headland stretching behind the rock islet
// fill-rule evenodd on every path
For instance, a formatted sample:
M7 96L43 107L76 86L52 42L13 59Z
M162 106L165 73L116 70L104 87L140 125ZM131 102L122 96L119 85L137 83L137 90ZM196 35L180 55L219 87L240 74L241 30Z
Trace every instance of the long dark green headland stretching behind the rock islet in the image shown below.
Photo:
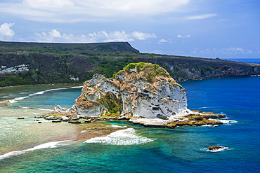
M37 83L83 82L99 73L106 77L131 62L160 64L177 80L255 74L252 65L220 59L143 54L129 43L20 43L0 41L1 66L26 64L30 71L0 74L0 87ZM1 70L1 69L0 69ZM70 76L79 81L70 80Z

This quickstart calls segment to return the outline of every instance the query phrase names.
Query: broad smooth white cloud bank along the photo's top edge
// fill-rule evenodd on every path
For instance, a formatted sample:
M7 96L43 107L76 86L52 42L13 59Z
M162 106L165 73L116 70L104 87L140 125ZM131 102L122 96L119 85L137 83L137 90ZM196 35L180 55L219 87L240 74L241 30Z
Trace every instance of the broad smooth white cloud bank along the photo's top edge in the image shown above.
M0 3L0 11L46 22L107 21L182 11L189 3L190 0L22 0Z

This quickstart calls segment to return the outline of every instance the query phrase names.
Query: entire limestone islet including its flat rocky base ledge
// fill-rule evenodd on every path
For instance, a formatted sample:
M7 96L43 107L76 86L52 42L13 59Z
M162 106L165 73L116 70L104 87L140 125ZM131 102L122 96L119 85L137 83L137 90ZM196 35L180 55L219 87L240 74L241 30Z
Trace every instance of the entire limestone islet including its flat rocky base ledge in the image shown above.
M152 127L183 125L219 125L212 118L225 115L189 110L186 90L157 64L131 63L113 78L94 74L84 82L82 95L71 109L58 105L44 116L69 123L91 123L96 120L129 120Z

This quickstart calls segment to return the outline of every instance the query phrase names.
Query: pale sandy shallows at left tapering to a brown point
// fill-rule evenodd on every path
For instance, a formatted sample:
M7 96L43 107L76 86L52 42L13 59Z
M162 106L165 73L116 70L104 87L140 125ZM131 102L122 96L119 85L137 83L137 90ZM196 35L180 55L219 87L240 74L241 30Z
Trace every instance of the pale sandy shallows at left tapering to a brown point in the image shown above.
M19 116L25 119L18 120ZM77 141L91 139L93 137L103 137L122 128L97 121L93 123L72 124L67 122L52 123L51 120L37 118L43 111L37 109L22 108L0 108L2 115L1 134L4 141L1 141L0 155L11 151L21 151L40 144L52 141ZM7 114L8 113L8 114ZM5 121L4 121L5 120ZM41 122L41 123L39 123Z

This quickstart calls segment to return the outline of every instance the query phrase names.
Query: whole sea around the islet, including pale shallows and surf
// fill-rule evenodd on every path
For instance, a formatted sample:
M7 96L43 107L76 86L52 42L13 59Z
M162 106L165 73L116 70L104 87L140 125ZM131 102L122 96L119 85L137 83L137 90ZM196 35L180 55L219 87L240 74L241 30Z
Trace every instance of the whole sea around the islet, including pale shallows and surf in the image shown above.
M0 104L0 172L260 172L260 77L180 84L189 109L224 113L224 124L167 129L110 121L102 125L117 131L107 137L60 141L77 126L35 117L55 104L70 108L81 88L1 89L0 99L11 103ZM207 150L215 145L224 148Z

